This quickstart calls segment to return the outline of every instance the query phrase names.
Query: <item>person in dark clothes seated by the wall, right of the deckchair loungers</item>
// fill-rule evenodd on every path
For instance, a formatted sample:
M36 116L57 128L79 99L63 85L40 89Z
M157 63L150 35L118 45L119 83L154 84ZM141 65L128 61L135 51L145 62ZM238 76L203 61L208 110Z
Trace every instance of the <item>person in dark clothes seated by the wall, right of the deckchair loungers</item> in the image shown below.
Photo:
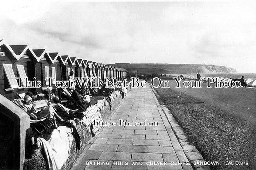
M75 90L72 92L71 97L73 98L73 100L80 106L83 107L89 107L91 105L91 100L90 97L88 98L86 95L85 98L83 98L83 92L82 92L82 88L78 86L78 84L75 85Z

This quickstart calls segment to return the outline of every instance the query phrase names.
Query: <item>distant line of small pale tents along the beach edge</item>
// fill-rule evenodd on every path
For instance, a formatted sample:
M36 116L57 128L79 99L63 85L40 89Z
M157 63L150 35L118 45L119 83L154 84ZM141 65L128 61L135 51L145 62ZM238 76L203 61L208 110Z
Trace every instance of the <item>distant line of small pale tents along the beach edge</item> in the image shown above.
M173 76L173 77L181 77L181 76L178 76L177 74L170 74L170 76ZM197 80L197 76L192 76L192 75L182 75L183 79L188 79L188 80ZM201 77L200 80L201 81L204 81L204 82L207 82L208 81L208 78L212 78L212 77ZM217 78L218 81L227 81L227 82L230 82L232 81L233 79L232 78L223 78L223 77L214 77L215 79ZM244 79L244 81L246 82L247 86L248 87L256 87L256 79L253 80L253 79Z

